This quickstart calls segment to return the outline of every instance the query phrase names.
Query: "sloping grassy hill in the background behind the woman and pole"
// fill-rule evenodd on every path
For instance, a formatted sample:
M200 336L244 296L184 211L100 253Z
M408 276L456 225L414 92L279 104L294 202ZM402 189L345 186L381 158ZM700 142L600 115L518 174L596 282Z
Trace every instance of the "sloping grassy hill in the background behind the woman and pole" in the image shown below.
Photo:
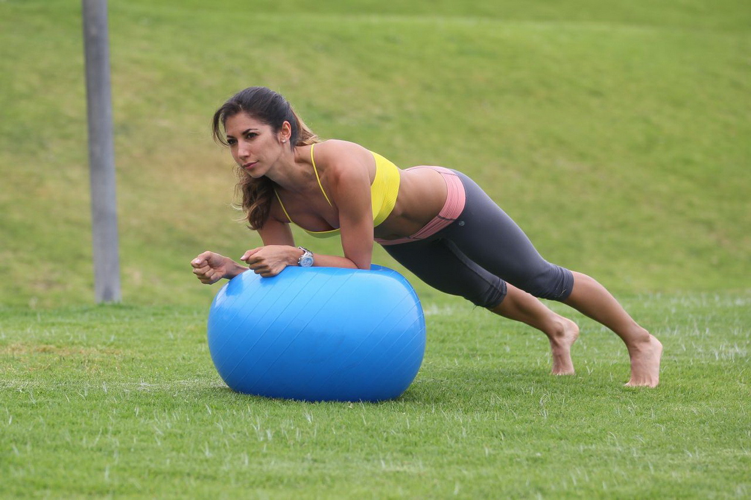
M258 245L208 126L249 85L323 137L464 170L615 291L748 288L746 2L206 4L110 2L126 303L205 304L190 258ZM80 2L2 2L0 42L0 305L90 303Z

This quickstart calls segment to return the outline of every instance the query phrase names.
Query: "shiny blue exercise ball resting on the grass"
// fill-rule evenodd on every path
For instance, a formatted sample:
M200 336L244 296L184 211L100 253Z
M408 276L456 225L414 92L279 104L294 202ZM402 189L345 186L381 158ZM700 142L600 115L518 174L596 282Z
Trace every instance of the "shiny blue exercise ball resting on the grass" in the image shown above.
M209 351L240 393L305 401L399 397L420 369L425 318L394 270L247 271L214 297Z

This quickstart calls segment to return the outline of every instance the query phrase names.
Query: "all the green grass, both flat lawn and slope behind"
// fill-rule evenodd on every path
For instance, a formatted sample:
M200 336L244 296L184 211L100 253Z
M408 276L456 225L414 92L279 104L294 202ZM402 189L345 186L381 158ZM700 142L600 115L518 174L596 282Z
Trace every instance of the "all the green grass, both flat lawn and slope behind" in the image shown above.
M109 3L123 304L92 306L80 2L0 2L0 498L751 498L747 2ZM659 388L564 306L556 378L544 337L405 272L402 398L228 390L188 263L258 245L208 125L256 84L477 179L662 340Z

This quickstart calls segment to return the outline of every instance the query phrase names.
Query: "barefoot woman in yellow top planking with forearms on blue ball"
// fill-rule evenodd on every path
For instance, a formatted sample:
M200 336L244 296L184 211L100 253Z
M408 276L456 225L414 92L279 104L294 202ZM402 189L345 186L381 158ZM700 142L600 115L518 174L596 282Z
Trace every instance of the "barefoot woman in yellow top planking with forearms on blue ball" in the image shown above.
M626 385L658 384L660 342L590 276L544 261L462 173L400 170L357 144L321 142L282 95L264 87L230 98L214 114L213 131L240 167L243 209L264 245L245 252L247 267L214 252L198 255L192 266L201 282L248 269L275 276L297 265L369 269L375 239L428 285L541 330L550 340L553 374L574 373L579 329L535 297L566 303L617 333L631 360ZM296 246L290 223L313 236L339 236L344 256Z

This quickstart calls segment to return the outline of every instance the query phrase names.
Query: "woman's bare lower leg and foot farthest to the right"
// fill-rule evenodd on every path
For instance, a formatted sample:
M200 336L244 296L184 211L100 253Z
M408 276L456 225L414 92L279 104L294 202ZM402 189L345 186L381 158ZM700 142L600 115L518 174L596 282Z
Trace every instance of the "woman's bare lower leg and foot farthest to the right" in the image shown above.
M644 330L604 286L586 274L574 273L574 288L563 303L613 330L623 339L631 359L628 386L655 387L659 383L662 344Z

